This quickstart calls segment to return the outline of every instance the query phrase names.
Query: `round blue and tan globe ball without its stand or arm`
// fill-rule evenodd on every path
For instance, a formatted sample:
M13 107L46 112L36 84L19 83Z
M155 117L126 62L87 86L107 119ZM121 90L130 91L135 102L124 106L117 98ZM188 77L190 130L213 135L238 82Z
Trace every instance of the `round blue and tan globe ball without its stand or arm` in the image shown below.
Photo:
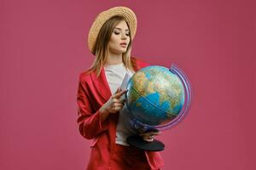
M166 127L182 113L186 94L182 78L164 66L137 71L126 88L125 104L133 121L148 127Z

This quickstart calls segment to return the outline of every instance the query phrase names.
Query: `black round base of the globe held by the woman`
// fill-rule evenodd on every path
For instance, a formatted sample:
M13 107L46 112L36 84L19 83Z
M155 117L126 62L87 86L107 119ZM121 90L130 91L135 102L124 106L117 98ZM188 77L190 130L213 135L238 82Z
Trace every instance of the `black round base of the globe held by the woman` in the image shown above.
M140 150L161 151L165 150L165 144L160 140L154 139L153 142L147 142L140 136L130 136L126 139L127 143Z

